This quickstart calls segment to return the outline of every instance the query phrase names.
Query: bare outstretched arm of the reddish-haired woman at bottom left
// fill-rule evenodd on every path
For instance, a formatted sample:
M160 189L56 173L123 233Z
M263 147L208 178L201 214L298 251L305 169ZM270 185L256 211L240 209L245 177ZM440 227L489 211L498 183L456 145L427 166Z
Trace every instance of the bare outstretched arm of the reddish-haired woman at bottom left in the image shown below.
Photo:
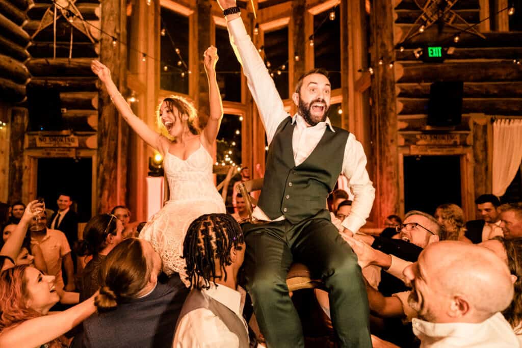
M0 333L0 347L33 348L48 343L94 313L94 296L72 308L22 322L13 329Z

